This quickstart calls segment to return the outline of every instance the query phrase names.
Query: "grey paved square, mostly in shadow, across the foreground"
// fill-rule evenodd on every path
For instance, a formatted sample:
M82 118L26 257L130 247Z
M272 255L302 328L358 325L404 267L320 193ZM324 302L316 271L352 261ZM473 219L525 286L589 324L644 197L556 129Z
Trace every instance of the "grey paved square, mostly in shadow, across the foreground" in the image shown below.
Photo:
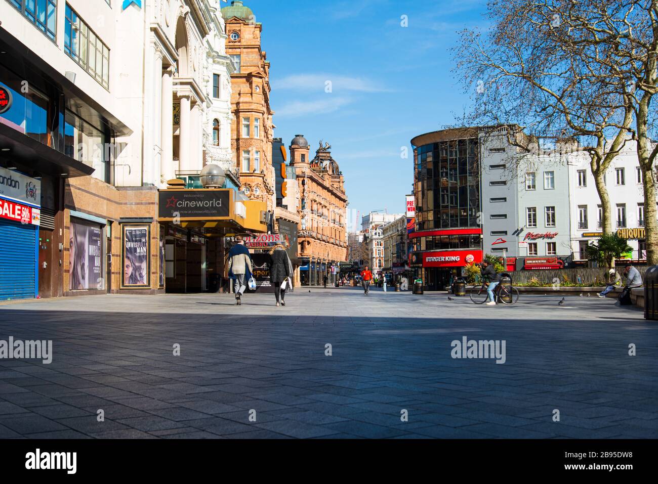
M2 304L0 340L53 340L53 361L0 359L0 438L658 437L658 323L611 299L560 299L298 288L285 307L209 294ZM505 340L505 363L453 358L463 337Z

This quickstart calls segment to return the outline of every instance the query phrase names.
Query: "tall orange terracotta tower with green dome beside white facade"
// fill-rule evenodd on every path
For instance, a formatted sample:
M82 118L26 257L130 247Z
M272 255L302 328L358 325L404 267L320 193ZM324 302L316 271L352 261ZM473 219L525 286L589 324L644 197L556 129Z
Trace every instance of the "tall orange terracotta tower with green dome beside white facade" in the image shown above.
M241 1L222 9L226 22L226 53L232 59L231 149L240 174L241 189L253 200L266 201L272 213L276 205L272 168L272 109L270 63L261 49L263 26Z

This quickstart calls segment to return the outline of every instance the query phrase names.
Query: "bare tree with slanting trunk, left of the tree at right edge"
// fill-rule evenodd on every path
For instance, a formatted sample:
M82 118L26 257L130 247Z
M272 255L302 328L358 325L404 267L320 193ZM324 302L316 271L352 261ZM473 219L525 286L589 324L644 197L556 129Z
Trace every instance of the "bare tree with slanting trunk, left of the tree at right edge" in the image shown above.
M475 88L468 124L520 124L523 128L508 131L508 141L522 153L532 153L539 139L580 141L563 145L589 155L603 231L610 233L603 176L632 130L632 93L613 66L599 62L615 45L597 45L592 32L564 22L581 7L586 15L586 3L597 2L491 0L492 30L464 30L453 53L464 87Z

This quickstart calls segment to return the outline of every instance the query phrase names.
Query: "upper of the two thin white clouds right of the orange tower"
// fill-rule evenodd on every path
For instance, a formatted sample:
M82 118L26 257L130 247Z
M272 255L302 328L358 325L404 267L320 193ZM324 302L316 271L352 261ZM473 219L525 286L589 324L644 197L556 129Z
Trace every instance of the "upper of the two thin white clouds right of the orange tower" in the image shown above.
M272 90L298 89L325 92L328 82L331 83L332 93L340 91L364 93L391 92L390 89L386 89L381 83L368 78L353 78L349 76L338 76L336 74L293 74L286 78L274 80L272 82Z

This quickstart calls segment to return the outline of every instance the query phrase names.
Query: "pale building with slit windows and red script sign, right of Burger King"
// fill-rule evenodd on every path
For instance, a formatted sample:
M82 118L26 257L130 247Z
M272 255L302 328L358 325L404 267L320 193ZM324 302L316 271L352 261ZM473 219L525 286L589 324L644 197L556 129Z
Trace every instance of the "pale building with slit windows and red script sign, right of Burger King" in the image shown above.
M525 153L506 135L488 134L481 149L484 252L569 258L568 147L557 143Z

